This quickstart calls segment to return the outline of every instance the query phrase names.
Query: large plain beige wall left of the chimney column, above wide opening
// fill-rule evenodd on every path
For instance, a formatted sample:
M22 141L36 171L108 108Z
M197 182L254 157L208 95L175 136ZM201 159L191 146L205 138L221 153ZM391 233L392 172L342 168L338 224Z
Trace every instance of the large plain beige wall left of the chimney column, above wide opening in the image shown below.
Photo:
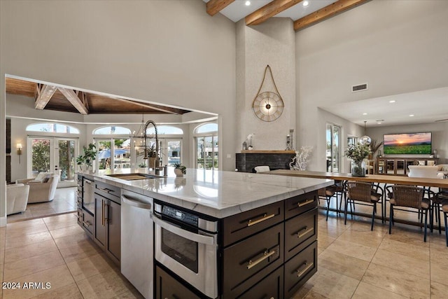
M233 158L223 160L223 168L234 169L235 24L207 15L205 5L0 1L0 77L12 74L217 113L224 124L221 148ZM0 81L0 123L5 123ZM0 148L4 142L1 132ZM0 165L4 181L4 162ZM0 217L6 212L3 198Z

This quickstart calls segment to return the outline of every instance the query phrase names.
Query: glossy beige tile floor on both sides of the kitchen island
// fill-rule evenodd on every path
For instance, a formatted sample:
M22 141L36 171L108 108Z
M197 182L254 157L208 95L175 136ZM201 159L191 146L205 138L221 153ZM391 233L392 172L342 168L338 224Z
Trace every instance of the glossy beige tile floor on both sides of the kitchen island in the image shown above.
M444 235L420 228L349 219L321 210L318 272L297 298L447 298ZM50 282L50 288L3 289L0 298L141 298L76 224L75 214L8 223L0 228L0 281Z

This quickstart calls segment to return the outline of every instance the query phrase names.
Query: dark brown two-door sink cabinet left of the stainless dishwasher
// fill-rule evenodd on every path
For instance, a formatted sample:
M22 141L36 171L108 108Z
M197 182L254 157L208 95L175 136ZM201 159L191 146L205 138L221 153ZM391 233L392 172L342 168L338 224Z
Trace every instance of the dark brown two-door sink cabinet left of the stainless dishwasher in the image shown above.
M121 205L119 194L120 190L116 190L115 186L95 182L94 241L118 265L120 265L121 255Z

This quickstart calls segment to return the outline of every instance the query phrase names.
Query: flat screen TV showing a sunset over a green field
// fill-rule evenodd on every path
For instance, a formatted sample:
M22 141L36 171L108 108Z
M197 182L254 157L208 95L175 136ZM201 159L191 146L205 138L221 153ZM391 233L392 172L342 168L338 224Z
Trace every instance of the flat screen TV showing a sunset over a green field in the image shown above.
M431 151L431 132L384 134L385 155L429 155Z

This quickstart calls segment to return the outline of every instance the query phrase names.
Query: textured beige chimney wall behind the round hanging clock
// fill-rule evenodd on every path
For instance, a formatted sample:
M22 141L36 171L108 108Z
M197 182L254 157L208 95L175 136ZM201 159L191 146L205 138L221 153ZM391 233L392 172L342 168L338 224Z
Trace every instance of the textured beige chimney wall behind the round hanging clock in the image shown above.
M237 152L248 134L253 148L283 150L286 135L295 128L295 34L290 18L273 18L261 25L237 23ZM255 116L253 99L269 64L284 109L281 116L265 122ZM275 91L269 71L260 92Z

